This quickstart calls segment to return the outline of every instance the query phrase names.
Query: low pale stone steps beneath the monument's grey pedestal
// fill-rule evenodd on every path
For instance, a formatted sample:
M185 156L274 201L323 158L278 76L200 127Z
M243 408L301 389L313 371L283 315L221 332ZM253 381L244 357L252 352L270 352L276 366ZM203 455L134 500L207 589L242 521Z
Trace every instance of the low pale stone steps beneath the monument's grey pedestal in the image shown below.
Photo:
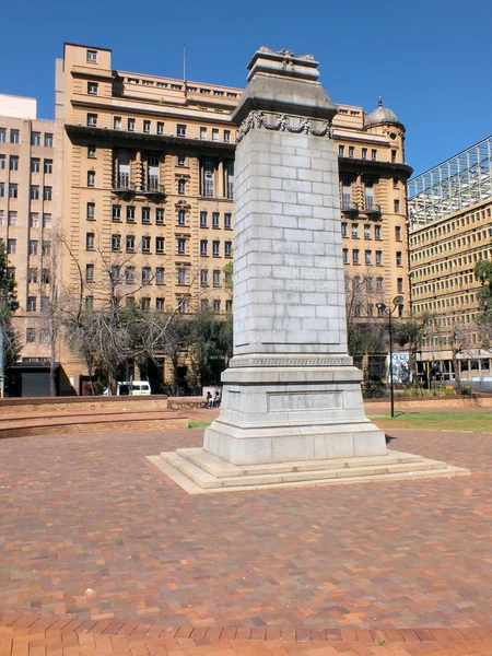
M203 448L180 448L149 458L190 494L468 476L460 467L412 454L236 466Z

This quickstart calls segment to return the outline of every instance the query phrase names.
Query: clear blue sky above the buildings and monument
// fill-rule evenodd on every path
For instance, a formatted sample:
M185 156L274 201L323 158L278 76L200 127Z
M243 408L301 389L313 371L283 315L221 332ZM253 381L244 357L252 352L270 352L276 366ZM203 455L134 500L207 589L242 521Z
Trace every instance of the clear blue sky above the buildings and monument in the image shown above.
M113 49L116 69L243 86L261 45L312 52L332 101L383 96L407 127L415 173L492 133L492 3L487 0L11 0L2 3L0 93L52 117L63 42Z

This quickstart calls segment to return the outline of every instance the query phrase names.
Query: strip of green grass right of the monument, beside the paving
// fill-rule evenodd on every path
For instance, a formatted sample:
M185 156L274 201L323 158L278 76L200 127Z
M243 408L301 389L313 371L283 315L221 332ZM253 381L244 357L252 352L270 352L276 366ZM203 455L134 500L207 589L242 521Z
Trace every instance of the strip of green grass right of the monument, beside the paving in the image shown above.
M492 412L468 410L462 412L399 412L371 414L371 421L382 429L423 429L426 431L469 431L492 433Z

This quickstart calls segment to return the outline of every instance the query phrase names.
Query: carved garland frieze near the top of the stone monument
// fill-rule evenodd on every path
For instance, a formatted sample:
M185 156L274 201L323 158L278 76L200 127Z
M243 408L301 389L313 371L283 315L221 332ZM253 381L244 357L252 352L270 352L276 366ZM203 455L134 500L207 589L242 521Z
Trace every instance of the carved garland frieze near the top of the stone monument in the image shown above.
M312 134L313 137L331 138L331 121L316 120L305 116L293 116L289 114L271 114L267 112L250 112L241 124L236 132L236 142L253 129L265 128L266 130L279 130L280 132L293 132L294 134Z

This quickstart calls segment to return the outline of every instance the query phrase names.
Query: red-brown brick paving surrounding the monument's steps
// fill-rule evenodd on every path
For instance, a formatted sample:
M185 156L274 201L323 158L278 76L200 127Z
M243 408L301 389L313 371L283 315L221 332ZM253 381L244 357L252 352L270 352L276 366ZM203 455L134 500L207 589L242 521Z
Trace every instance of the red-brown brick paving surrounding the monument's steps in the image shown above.
M201 430L1 441L0 654L492 654L492 434L390 437L471 477L190 496L145 456Z

